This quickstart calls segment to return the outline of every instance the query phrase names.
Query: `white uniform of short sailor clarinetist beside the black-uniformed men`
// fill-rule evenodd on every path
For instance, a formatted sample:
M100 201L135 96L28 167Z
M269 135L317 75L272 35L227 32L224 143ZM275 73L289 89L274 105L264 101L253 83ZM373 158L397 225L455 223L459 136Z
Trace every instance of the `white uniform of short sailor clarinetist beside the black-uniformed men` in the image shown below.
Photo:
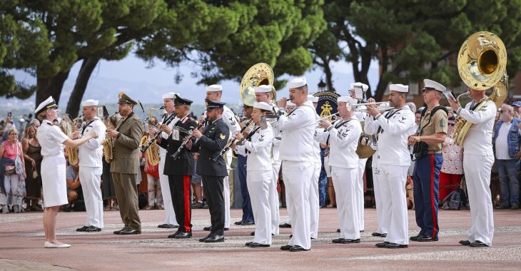
M273 143L273 128L264 130L255 127L251 141L237 145L236 152L248 156L246 163L246 183L250 193L251 208L255 219L255 237L253 242L271 245L271 210L269 202L270 183L272 178L271 145Z

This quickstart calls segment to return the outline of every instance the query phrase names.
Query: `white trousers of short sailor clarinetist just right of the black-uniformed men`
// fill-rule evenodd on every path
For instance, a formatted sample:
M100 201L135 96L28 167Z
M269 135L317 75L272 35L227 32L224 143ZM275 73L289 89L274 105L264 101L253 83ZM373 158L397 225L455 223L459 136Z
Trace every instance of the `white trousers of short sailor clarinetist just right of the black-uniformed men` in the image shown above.
M246 183L250 193L251 208L255 219L255 237L253 242L262 245L271 245L271 210L270 210L270 183L271 170L248 171Z

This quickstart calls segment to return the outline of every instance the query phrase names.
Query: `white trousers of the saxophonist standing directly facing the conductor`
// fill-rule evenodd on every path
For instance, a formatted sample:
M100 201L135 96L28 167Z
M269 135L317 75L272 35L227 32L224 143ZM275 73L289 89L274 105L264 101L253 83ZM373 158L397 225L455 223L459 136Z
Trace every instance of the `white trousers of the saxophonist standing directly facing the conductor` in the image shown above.
M84 193L87 211L86 226L103 227L103 195L101 195L101 173L103 168L80 166L81 190Z

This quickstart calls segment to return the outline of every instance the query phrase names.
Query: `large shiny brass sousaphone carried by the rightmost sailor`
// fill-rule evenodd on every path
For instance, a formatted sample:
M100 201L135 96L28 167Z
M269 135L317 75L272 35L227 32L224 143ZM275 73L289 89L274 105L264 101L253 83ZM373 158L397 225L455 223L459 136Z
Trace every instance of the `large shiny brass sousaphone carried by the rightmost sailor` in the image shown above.
M475 111L480 111L488 101L493 101L496 106L500 106L505 101L508 92L506 67L507 50L505 44L495 34L481 31L470 35L463 42L457 56L457 71L462 81L477 91L492 88L490 96L477 106ZM457 97L456 102L461 106L460 96ZM470 126L472 123L464 118L459 118L455 123L453 138L460 147Z

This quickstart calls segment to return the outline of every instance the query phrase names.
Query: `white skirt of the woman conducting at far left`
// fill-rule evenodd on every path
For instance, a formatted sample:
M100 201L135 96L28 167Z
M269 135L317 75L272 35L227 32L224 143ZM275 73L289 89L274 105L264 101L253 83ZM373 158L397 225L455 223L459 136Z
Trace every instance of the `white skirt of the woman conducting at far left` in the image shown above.
M41 161L41 184L45 207L59 206L67 201L66 160L63 155L44 157Z

